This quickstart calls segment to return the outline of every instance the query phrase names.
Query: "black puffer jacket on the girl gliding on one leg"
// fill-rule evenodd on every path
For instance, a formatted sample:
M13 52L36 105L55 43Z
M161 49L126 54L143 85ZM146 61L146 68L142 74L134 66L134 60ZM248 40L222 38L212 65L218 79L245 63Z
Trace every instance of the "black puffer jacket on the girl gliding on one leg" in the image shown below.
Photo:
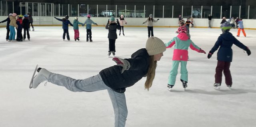
M122 67L114 65L100 71L100 76L104 83L118 93L124 93L126 87L134 85L142 79L147 72L149 66L149 55L145 48L134 52L130 59L130 69L121 73Z

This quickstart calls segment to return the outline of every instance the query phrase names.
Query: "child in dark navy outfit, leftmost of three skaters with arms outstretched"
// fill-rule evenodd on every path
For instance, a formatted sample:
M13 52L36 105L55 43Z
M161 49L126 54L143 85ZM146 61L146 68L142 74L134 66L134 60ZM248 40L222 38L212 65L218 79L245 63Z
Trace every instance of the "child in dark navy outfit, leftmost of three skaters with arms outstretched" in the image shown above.
M69 38L69 33L68 33L68 24L70 24L70 26L73 26L73 24L71 24L71 22L68 20L69 16L65 16L65 18L62 18L62 19L59 19L59 18L56 18L54 17L56 20L59 20L62 22L62 29L63 29L63 40L65 40L65 36L67 34L67 39L68 41L70 41L70 38Z

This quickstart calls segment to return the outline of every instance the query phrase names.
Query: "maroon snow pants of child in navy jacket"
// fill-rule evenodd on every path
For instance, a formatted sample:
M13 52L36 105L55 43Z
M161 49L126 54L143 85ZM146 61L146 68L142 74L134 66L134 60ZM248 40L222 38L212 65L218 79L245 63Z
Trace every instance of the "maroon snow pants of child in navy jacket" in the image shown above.
M216 67L215 73L215 83L220 83L222 81L222 71L225 76L226 85L232 85L232 77L229 70L230 62L219 61Z

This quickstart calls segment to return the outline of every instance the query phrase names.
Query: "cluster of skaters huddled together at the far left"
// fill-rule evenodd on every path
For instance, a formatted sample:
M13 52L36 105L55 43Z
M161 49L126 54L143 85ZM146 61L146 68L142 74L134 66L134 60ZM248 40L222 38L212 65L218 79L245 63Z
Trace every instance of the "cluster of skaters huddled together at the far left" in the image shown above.
M9 14L8 18L6 20L1 21L0 23L7 22L6 25L6 41L9 42L22 42L26 40L26 36L28 40L30 40L30 24L32 26L32 30L34 31L34 26L33 26L33 18L32 16L28 13L26 15L17 15L16 13ZM17 36L15 39L16 31L17 30ZM24 30L24 34L22 36L22 29Z

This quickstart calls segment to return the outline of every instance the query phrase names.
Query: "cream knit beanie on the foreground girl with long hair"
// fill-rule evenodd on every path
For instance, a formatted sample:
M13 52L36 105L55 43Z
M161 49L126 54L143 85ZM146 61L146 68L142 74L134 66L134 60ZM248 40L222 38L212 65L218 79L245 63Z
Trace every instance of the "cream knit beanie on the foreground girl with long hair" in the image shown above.
M153 56L164 52L166 50L166 46L159 38L150 37L146 42L146 50L149 56Z

